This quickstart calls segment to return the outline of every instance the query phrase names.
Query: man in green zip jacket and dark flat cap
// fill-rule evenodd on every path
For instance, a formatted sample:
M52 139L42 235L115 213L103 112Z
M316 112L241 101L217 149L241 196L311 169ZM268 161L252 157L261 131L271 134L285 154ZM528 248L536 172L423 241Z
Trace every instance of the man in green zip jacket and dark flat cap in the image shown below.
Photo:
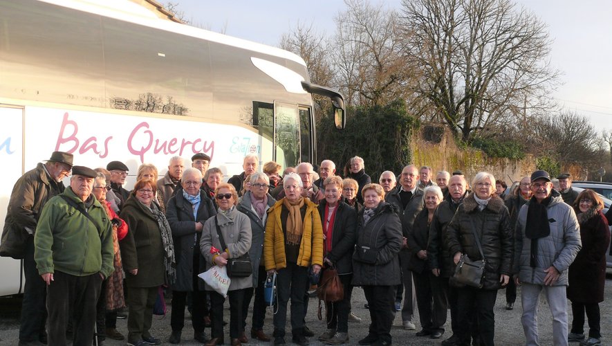
M91 345L102 280L113 272L113 230L91 190L96 172L74 166L70 187L50 199L34 235L34 259L47 284L48 345Z

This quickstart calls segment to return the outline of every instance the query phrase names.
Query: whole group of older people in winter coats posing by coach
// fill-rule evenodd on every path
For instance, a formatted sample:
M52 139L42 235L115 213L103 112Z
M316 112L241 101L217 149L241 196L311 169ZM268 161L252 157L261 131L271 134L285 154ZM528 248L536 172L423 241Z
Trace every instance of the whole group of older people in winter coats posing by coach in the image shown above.
M519 285L527 345L539 343L541 291L553 314L555 345L601 344L609 221L600 197L573 192L568 174L558 177L560 191L539 170L508 192L488 172L476 174L468 188L460 171L433 179L431 167L407 165L397 177L385 171L372 183L359 156L342 179L329 160L319 174L310 163L281 172L268 162L259 172L259 158L250 154L243 172L223 183L209 156L191 159L185 168L183 158L171 158L163 177L154 165L141 165L130 191L124 163L93 170L73 165L72 154L53 152L17 181L2 246L19 247L5 244L18 238L5 233L23 235L20 345L65 345L67 332L73 345L91 345L94 337L122 340L116 320L124 306L129 345L158 345L162 340L150 329L162 286L171 290L169 343L181 342L188 306L194 340L221 345L225 296L198 274L246 254L252 273L230 273L231 345L248 343L251 302L251 338L285 344L290 302L291 340L308 345L314 336L305 324L308 290L330 269L344 298L325 303L326 330L318 340L328 345L349 342L355 286L370 314L359 345L390 345L396 312L404 329L415 330L416 309L417 337L441 338L449 311L452 335L442 345L494 345L497 291L506 288L506 309L513 309ZM484 263L480 286L454 280L467 257ZM270 337L263 331L263 282L272 275L277 300Z

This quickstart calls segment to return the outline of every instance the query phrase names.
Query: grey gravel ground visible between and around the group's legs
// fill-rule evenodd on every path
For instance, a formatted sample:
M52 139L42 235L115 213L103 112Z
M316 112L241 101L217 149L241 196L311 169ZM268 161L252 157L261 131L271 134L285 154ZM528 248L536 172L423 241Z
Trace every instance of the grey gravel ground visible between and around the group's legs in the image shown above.
M609 343L610 331L612 329L612 280L610 279L610 270L609 270L609 279L606 280L606 301L600 304L601 316L602 316L602 334L604 341L604 345L612 345ZM524 345L524 336L523 329L521 327L521 303L520 303L520 288L518 293L519 298L517 298L517 302L515 303L514 310L506 311L506 295L505 291L499 291L497 295L497 303L495 304L494 313L495 313L495 343L497 345ZM363 321L360 323L349 323L349 338L350 345L357 345L357 341L366 336L368 330L368 321L369 321L369 312L367 309L364 309L364 303L366 302L363 291L359 288L356 288L353 291L353 312L363 318ZM20 300L17 299L0 299L0 345L6 346L16 346L19 342L19 305ZM225 303L225 320L229 321L230 312L228 302ZM163 345L169 345L168 338L170 336L170 309L168 307L167 316L164 318L160 318L160 316L154 316L153 328L151 330L151 334L154 336L161 338L163 340ZM569 313L569 321L571 323L571 309L568 311ZM196 343L195 340L192 339L192 329L191 322L189 320L189 315L186 313L186 321L185 321L185 329L183 329L183 342L181 345L201 345ZM415 322L417 329L420 329L418 321L418 315L415 316L413 322ZM550 316L550 310L548 309L548 304L546 303L546 299L542 296L540 300L540 308L539 308L539 329L540 329L540 344L541 345L553 345L553 331L552 331L552 317ZM405 331L401 327L402 319L400 314L396 316L395 321L393 322L393 328L391 329L391 335L393 336L393 343L396 345L439 345L441 340L450 336L450 318L448 318L447 324L445 328L447 333L443 335L441 339L432 340L430 338L423 338L415 336L416 331ZM322 334L325 331L325 323L324 321L319 321L317 319L317 301L316 299L310 299L310 304L308 307L308 316L306 316L306 325L315 332L315 337L310 338L310 345L322 345L319 341L316 340L316 336ZM118 320L117 322L118 330L127 336L127 320ZM250 331L250 318L248 318L247 325L247 336ZM266 334L272 334L272 313L270 313L270 308L268 308L268 313L266 314L266 325L264 327L264 331ZM418 330L417 330L418 331ZM588 326L585 326L585 331L588 331ZM206 329L206 333L210 336L210 329ZM229 342L229 326L225 327L225 340ZM290 327L287 328L287 336L286 341L290 342ZM250 345L264 345L268 343L263 343L257 340L250 340ZM288 343L290 344L290 343ZM126 345L125 341L117 341L117 340L106 340L104 341L104 345ZM578 345L573 344L573 345Z

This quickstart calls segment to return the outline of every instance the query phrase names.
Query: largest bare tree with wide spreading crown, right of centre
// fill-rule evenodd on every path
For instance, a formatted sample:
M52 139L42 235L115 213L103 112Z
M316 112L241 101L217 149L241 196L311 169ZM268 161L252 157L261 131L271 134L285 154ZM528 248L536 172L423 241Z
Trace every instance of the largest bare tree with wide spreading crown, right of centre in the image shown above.
M509 0L402 0L405 56L423 78L416 96L470 142L532 109L546 109L557 71L543 24Z

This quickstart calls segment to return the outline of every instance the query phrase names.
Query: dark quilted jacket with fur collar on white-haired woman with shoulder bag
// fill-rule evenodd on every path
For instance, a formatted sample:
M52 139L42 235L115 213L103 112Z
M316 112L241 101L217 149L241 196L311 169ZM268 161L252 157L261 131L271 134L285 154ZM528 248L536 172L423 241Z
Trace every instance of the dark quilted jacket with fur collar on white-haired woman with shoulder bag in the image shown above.
M470 260L481 260L472 224L480 237L485 256L483 289L500 289L501 274L512 275L514 255L514 235L508 208L501 198L493 196L486 208L480 210L474 193L467 195L447 228L445 240L451 256L464 253Z

